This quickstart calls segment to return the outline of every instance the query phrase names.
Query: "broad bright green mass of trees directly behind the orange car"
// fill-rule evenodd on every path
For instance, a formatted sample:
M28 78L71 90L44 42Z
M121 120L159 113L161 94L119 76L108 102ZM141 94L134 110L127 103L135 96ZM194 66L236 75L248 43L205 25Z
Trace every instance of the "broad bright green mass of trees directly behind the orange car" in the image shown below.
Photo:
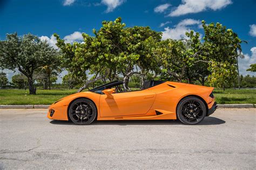
M82 91L96 81L121 77L124 88L134 74L146 77L216 87L230 86L236 80L241 56L241 40L231 29L217 23L206 24L204 38L198 32L187 32L183 40L161 40L161 33L150 27L125 27L121 18L102 22L94 36L83 33L84 42L65 43L57 34L63 66L76 80L84 82ZM87 80L86 73L93 76Z

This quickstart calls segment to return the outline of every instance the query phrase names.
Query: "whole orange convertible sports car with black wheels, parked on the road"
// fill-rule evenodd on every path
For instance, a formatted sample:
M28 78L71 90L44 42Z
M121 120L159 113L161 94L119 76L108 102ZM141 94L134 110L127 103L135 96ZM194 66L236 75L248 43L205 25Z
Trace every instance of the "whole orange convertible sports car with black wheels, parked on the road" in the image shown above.
M147 81L142 89L124 91L113 81L86 92L66 96L49 107L48 118L78 125L108 120L179 119L198 124L213 114L217 103L212 87L170 81Z

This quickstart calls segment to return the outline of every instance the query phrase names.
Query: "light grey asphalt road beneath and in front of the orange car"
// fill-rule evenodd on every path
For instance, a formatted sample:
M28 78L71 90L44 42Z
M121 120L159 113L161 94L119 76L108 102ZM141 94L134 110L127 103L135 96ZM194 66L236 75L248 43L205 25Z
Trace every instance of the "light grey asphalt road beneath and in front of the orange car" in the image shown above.
M0 169L256 169L256 109L218 109L199 125L46 118L0 109Z

